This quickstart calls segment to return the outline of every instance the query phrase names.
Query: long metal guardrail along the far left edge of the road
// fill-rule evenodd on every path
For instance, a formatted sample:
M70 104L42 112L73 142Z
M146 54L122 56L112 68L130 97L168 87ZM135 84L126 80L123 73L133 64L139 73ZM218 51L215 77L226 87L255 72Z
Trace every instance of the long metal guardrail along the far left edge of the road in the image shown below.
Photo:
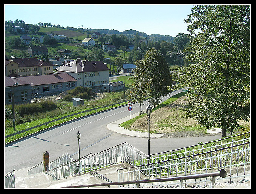
M124 103L124 102L131 101L131 100L132 100L132 99L129 99L129 100L126 100L126 101L117 102L117 103L114 103L114 104L109 104L109 105L105 105L105 106L102 106L102 107L92 108L92 109L90 109L90 110L84 110L84 111L81 111L81 112L73 113L73 114L71 114L71 115L63 116L63 117L61 117L61 118L57 118L57 119L54 119L54 120L52 120L52 121L44 122L44 123L41 123L41 124L39 124L39 125L36 125L36 126L33 126L33 127L29 127L29 128L27 128L27 129L24 129L24 130L17 131L17 132L15 132L15 133L6 135L5 138L8 139L9 137L15 136L15 135L20 134L20 133L24 133L24 132L29 131L29 130L32 130L32 129L34 129L34 128L41 127L41 126L43 126L43 125L48 125L48 124L50 124L50 123L52 123L52 122L59 121L59 120L61 120L61 119L65 119L65 118L69 118L69 117L71 117L71 116L75 116L75 115L79 115L79 114L82 114L82 113L94 111L94 110L97 110L97 109L100 109L100 108L110 107L110 106L113 106L113 105L117 105L117 104L121 104L121 103ZM125 105L127 105L127 104L125 104ZM121 106L125 106L125 105L121 105ZM88 116L88 115L82 116L81 118L86 117L86 116ZM59 125L59 124L58 124L58 125Z

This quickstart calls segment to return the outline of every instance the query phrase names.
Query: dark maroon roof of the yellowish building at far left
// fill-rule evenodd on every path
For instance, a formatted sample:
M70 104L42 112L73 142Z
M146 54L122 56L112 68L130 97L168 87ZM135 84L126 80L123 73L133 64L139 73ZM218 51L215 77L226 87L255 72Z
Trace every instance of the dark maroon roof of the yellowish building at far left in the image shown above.
M52 66L51 63L48 63L47 61L39 60L37 58L13 58L13 59L6 59L5 65L15 62L18 64L18 67L44 67L44 66Z

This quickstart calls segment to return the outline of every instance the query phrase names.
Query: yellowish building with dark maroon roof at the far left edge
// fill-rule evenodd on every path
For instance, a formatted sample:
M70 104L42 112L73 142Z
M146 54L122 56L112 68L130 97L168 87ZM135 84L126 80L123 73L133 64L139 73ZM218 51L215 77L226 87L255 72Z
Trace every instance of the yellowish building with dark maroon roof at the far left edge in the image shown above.
M12 58L5 60L5 76L32 76L53 73L53 64L37 58Z

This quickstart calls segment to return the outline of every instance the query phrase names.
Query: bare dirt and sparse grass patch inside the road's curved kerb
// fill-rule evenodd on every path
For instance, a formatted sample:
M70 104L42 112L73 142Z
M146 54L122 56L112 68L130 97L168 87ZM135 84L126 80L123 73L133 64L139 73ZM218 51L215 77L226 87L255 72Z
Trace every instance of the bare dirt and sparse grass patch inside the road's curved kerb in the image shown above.
M197 121L185 118L184 106L187 97L182 96L173 103L152 112L150 116L150 131L165 133L162 137L199 137L212 136L218 133L207 133ZM148 116L137 119L129 130L148 131Z

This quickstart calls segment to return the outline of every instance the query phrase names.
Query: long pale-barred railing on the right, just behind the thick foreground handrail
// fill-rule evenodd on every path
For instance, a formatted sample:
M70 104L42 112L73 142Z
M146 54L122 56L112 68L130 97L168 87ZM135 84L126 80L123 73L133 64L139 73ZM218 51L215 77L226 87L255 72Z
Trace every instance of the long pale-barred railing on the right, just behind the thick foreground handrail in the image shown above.
M155 158L158 162L152 162L154 159L150 159L152 162L150 164L118 169L118 180L124 182L187 176L188 174L214 172L220 168L229 170L230 176L228 178L230 181L231 177L239 177L238 172L241 170L244 172L241 176L247 176L245 170L247 165L250 165L250 138L230 142L227 145L223 145L224 147L221 147L222 145L211 146L205 149L206 151L200 151L199 153L195 153L199 151L198 149L176 153L170 155L170 157L164 156L164 158L167 158L165 160L162 156L159 156ZM204 181L206 180L190 180L189 182ZM128 186L133 187L135 185Z

